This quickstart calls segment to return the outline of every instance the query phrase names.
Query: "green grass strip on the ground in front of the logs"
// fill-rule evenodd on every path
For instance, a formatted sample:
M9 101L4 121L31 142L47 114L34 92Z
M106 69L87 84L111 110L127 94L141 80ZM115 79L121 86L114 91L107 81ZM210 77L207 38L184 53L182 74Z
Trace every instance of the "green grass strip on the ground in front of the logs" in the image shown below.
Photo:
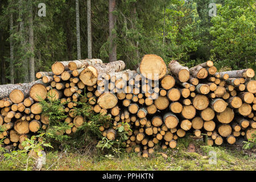
M256 154L252 150L237 149L236 146L209 147L201 141L188 137L179 139L177 147L162 151L156 146L155 153L149 158L138 154L122 154L120 159L93 155L86 151L47 152L46 165L42 170L255 170ZM196 152L187 152L189 143L196 146ZM209 164L209 151L215 151L217 164ZM159 152L167 154L164 158ZM25 158L25 156L23 156ZM21 162L25 159L19 159ZM32 164L30 164L32 165ZM31 167L32 168L32 167ZM31 169L28 168L28 169ZM0 161L1 170L23 170L18 160Z

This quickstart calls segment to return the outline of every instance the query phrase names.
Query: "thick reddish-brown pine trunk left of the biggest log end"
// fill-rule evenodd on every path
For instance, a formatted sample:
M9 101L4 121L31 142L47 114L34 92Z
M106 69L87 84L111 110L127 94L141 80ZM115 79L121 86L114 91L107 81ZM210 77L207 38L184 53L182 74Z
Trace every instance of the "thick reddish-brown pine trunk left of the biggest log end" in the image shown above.
M117 60L116 35L113 32L117 17L112 13L115 9L115 0L109 0L109 62Z

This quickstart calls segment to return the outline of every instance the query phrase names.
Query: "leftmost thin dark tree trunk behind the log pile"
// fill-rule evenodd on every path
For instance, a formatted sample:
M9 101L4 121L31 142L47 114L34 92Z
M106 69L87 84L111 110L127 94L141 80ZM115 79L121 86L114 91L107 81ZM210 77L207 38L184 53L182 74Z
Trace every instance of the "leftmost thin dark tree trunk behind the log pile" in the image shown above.
M14 84L13 13L10 14L10 81Z

